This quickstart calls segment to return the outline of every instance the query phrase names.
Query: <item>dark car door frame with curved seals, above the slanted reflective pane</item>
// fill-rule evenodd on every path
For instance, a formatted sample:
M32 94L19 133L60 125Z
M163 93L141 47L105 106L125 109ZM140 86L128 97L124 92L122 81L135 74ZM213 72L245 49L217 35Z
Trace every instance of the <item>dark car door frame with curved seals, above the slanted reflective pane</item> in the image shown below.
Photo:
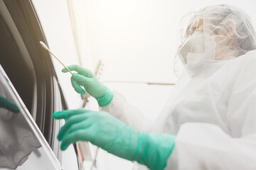
M18 96L60 164L68 155L73 161L66 169L78 169L76 147L62 152L56 138L63 122L52 114L68 107L53 62L39 44L46 39L31 1L0 0L0 37L0 64Z

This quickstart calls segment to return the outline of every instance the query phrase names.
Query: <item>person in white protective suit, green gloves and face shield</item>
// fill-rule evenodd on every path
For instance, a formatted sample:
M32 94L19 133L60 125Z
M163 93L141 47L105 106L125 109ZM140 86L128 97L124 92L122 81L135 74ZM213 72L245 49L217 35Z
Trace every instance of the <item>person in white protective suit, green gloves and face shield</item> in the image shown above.
M102 111L55 113L67 119L58 136L62 149L86 140L149 169L256 169L256 36L250 17L234 6L207 6L188 13L181 25L177 55L185 69L157 120L144 118L89 70L68 67L78 72L71 78L75 91L87 91Z

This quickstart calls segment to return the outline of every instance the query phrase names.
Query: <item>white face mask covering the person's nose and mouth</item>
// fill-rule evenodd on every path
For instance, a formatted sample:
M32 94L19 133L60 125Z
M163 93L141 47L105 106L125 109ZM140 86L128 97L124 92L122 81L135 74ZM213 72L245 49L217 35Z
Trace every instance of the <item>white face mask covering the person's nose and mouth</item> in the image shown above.
M201 71L205 62L213 62L215 57L215 42L210 35L196 32L178 49L178 57L183 62L184 67L191 77L196 76Z

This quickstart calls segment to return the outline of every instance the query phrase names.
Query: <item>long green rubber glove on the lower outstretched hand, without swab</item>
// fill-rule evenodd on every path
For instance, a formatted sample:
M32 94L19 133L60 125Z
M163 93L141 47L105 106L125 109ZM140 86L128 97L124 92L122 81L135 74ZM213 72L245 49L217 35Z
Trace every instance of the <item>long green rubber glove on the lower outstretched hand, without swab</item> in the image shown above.
M79 140L89 141L118 157L137 161L149 169L164 169L174 149L174 135L135 130L105 111L85 109L60 111L55 119L66 119L58 140L65 150Z

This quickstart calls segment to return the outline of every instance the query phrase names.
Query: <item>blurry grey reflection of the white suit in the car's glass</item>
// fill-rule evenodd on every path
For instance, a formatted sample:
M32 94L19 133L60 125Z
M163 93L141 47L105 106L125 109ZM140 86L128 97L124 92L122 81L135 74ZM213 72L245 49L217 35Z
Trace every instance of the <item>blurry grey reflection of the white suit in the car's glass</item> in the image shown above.
M0 96L14 103L8 89L0 81ZM16 169L28 159L29 154L41 147L23 114L0 108L0 169Z

